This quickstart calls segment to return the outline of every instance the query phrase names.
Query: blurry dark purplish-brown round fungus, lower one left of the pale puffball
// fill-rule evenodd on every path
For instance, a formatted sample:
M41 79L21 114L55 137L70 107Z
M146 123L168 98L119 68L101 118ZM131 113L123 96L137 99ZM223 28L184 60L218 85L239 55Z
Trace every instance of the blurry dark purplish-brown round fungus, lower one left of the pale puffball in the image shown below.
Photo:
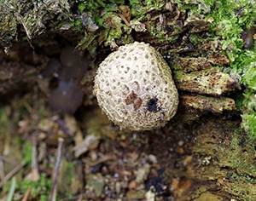
M57 112L74 113L82 104L84 92L79 84L59 81L59 86L49 96L49 106Z

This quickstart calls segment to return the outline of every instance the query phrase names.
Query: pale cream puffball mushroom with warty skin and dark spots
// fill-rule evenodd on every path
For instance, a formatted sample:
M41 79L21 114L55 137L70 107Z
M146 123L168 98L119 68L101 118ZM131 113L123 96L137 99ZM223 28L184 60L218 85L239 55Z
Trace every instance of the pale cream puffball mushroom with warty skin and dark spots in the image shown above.
M127 44L108 55L96 72L93 93L120 129L157 129L177 112L171 69L147 43Z

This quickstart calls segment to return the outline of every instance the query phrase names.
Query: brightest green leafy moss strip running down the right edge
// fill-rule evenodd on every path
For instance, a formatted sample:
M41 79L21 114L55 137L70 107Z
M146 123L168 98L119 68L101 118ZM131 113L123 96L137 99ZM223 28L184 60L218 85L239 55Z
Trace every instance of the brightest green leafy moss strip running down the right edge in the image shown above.
M214 23L217 27L216 36L231 60L231 67L241 77L241 84L246 87L242 101L242 126L251 139L256 138L256 48L243 49L241 32L244 27L250 28L256 19L255 1L220 1L213 10ZM240 16L239 11L243 12ZM214 15L215 14L215 15Z

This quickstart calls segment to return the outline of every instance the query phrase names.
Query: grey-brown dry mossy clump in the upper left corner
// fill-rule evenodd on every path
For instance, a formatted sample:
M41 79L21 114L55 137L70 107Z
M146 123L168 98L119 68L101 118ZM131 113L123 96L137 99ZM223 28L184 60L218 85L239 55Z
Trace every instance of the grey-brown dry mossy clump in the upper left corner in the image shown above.
M55 30L60 27L62 20L68 19L69 11L70 4L67 0L60 0L58 3L43 0L0 1L0 45L9 47L10 42L17 37L19 26L29 40L45 32L47 26Z

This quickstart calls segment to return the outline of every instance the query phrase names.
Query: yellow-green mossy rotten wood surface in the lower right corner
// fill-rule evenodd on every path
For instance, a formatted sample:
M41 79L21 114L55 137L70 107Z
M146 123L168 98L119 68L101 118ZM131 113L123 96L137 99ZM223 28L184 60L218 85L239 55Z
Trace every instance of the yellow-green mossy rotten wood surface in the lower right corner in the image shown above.
M211 158L211 161L207 165L198 165L192 176L200 181L213 181L218 191L221 189L219 192L230 194L231 198L255 200L256 169L252 159L255 158L255 150L249 145L244 131L237 128L238 123L213 118L196 129L198 135L193 156L199 154L203 158Z

